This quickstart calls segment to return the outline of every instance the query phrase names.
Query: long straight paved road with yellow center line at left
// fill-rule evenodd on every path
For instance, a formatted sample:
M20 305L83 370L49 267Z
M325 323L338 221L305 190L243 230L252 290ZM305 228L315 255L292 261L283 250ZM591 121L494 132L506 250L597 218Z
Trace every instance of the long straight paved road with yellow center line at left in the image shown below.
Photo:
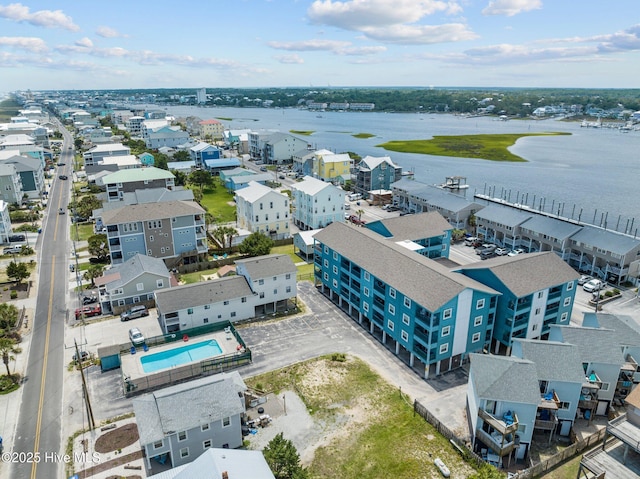
M73 150L68 146L73 144L73 139L66 130L63 131L65 142L61 158L66 166L56 175L64 172L71 176ZM66 211L69 194L68 184L56 177L49 193L48 217L40 239L37 305L13 445L13 452L26 455L24 461L13 464L12 479L63 477L59 455L64 449L60 433L69 215L59 215L58 210L63 208ZM31 457L35 458L35 453L40 453L39 462L29 461L29 455L33 454Z

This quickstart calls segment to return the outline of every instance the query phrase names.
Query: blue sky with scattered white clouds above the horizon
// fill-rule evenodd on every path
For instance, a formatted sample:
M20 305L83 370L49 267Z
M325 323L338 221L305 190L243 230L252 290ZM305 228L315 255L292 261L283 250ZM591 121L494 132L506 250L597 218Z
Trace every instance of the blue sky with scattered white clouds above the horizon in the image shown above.
M0 92L636 88L639 11L638 0L0 3Z

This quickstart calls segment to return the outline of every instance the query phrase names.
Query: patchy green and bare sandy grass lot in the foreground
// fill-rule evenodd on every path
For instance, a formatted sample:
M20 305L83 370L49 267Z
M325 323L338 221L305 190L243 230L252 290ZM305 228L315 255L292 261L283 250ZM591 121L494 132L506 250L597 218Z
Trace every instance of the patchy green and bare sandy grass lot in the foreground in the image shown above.
M346 360L344 360L346 359ZM322 381L307 380L322 372ZM452 477L474 473L449 441L419 415L410 401L362 360L323 356L246 380L251 387L299 394L314 420L341 432L315 451L311 478L380 479L440 477L440 457ZM358 410L357 413L354 411ZM364 414L363 414L364 413ZM358 418L344 424L345 418Z

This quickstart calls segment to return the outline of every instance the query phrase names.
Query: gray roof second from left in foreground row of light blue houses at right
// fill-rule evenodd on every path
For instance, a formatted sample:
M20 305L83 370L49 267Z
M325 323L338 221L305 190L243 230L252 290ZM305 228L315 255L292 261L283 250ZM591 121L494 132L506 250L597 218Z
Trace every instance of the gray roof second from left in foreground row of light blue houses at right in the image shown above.
M536 365L537 378L543 381L584 382L580 351L574 344L558 341L514 339L522 348L522 359Z

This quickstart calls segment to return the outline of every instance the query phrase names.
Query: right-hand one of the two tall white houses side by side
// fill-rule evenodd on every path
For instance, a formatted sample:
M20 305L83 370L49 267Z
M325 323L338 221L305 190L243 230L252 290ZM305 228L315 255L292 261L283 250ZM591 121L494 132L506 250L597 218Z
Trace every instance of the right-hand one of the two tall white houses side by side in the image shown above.
M293 222L301 230L324 228L343 222L345 192L331 183L311 176L291 186L295 210Z

